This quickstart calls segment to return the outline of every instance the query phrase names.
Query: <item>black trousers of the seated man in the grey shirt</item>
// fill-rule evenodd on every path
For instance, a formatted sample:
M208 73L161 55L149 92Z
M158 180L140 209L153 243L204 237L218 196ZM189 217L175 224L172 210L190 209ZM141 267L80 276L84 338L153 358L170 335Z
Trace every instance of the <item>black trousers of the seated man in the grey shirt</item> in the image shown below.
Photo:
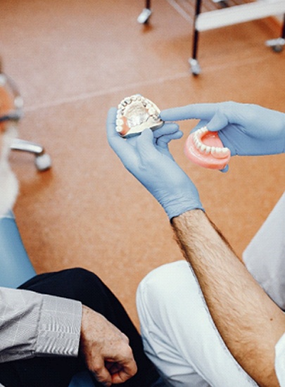
M137 329L119 300L95 274L85 269L40 274L20 288L79 300L124 332L129 338L138 372L120 386L148 387L158 379L153 364L144 354ZM0 364L0 383L5 387L68 387L72 376L82 369L86 367L81 357L34 357ZM103 385L94 379L94 386Z

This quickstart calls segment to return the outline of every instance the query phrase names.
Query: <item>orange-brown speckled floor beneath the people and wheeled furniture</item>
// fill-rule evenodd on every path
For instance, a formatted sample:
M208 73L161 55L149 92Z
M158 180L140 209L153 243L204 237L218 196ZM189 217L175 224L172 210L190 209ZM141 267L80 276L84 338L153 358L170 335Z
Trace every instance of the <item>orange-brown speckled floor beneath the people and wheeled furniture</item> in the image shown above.
M194 0L192 0L194 1ZM258 103L285 111L285 51L265 46L281 27L258 20L201 33L203 72L189 73L192 25L166 0L2 0L0 55L25 101L20 137L44 144L53 167L13 153L15 215L37 272L81 266L113 289L137 324L135 291L154 267L182 259L162 208L125 170L105 134L108 108L134 93L160 109ZM184 122L189 132L194 122ZM232 158L227 174L173 154L212 220L241 255L284 191L284 155Z

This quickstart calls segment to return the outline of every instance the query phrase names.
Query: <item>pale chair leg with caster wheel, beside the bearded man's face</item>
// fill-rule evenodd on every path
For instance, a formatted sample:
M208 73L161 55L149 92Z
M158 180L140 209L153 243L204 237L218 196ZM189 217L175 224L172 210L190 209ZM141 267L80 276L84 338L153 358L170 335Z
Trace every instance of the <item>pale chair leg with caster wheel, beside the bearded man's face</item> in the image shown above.
M22 139L14 139L11 145L11 150L34 154L34 164L39 171L45 171L51 168L51 157L45 153L42 145Z

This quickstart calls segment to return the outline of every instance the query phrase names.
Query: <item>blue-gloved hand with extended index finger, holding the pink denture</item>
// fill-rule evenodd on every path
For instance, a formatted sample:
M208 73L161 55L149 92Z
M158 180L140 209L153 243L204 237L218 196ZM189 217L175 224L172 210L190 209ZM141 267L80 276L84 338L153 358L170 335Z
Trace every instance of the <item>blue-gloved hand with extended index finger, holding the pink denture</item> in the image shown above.
M232 156L273 155L285 152L285 113L236 102L196 103L163 110L164 121L199 119L195 129L207 126L219 132ZM194 129L194 130L195 130Z

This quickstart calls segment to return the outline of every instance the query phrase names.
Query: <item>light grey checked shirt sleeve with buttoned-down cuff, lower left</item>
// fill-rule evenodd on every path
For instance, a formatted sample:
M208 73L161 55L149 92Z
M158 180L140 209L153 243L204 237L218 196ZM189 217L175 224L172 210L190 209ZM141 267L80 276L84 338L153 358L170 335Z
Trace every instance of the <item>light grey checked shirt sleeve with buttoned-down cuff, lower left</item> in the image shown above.
M0 362L34 356L77 356L78 301L0 287Z

